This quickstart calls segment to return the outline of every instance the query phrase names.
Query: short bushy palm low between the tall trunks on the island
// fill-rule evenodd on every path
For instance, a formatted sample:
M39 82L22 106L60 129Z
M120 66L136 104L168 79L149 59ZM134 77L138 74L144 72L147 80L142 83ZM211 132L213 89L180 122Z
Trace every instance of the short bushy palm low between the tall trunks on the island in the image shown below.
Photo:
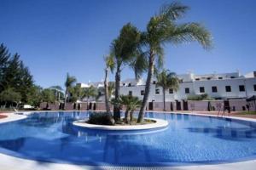
M142 102L137 97L131 95L121 95L120 105L125 105L125 122L130 123L133 119L133 112L141 106Z

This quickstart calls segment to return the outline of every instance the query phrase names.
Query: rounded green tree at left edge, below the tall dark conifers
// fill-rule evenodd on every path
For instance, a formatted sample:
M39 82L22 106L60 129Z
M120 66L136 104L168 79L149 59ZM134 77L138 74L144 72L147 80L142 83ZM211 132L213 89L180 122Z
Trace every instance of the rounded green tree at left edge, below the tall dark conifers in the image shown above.
M4 107L6 107L8 102L10 102L11 104L15 103L17 107L20 103L20 99L20 93L15 92L14 88L7 88L3 90L0 94L0 100L4 102Z

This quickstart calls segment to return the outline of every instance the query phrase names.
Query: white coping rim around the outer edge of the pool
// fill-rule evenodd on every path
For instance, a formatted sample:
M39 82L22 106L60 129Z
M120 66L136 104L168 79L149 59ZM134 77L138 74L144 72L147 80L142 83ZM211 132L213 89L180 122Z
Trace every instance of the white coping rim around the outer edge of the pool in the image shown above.
M30 111L33 112L45 112L45 111ZM55 112L55 111L47 111L47 112ZM65 111L66 112L66 111ZM187 113L180 113L180 112L173 112L173 111L148 111L148 112L159 112L159 113L174 113L174 114L182 114L182 115L195 115L195 116L212 116L212 117L223 117L223 118L231 118L236 120L242 121L249 121L249 122L256 122L256 119L253 118L244 118L244 117L235 117L235 116L215 116L215 115L207 115L207 114L199 114L196 112L187 112ZM0 123L5 122L14 122L19 121L22 119L26 119L26 115L20 115L15 113L2 113L2 115L7 115L3 119L0 119ZM256 167L256 159L253 160L244 160L244 161L231 161L231 162L220 162L220 163L209 163L209 164L191 164L191 165L179 165L179 166L159 166L159 167L119 167L119 166L102 166L101 164L91 166L91 165L77 165L77 164L68 164L68 163L57 163L57 162L44 162L44 161L34 161L34 160L27 160L22 159L15 156L4 155L0 153L0 167L3 169L15 169L15 170L25 170L25 169L52 169L52 170L63 170L63 169L71 169L71 170L82 170L82 169L179 169L179 170L198 170L198 168L203 170L212 170L212 169L247 169L253 170ZM22 166L20 166L22 164Z

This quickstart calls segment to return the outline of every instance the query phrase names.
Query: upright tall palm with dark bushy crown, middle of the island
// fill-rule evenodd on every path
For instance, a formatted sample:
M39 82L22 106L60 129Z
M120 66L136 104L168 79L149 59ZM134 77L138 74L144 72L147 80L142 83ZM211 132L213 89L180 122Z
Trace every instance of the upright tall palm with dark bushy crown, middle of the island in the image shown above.
M136 56L137 46L140 42L140 33L131 23L123 26L119 33L119 37L113 40L111 45L111 54L113 55L116 65L115 72L115 100L119 99L120 79L123 65L129 65L132 58ZM113 107L113 118L116 122L120 121L120 108L118 105Z

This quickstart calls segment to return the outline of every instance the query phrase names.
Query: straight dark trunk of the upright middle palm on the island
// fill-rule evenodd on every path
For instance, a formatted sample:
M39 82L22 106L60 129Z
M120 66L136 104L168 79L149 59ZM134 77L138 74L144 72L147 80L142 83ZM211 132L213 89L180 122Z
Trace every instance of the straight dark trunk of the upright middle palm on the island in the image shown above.
M115 91L114 91L114 99L116 101L119 99L120 95L120 79L121 79L121 71L120 71L120 66L118 65L116 68L116 73L115 73ZM119 105L113 105L113 119L115 122L119 122L121 118L120 114L120 108Z

